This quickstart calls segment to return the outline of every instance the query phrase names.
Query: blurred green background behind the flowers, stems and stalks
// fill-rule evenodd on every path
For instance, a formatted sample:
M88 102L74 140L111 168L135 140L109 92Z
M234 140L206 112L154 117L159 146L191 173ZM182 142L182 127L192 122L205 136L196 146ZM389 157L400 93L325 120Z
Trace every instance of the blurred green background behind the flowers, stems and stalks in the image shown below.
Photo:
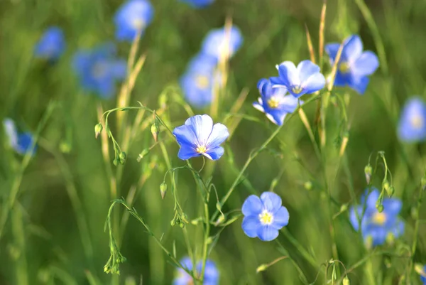
M328 1L325 41L342 41L351 33L359 33L364 48L377 52L371 26L357 2L361 3ZM93 127L99 122L97 107L114 108L116 100L99 100L84 94L72 71L71 58L78 48L114 41L112 17L121 4L122 1L111 0L0 1L0 118L11 117L21 129L35 131L49 102L59 103L41 131L38 150L23 173L18 198L0 240L0 284L90 284L90 276L95 279L92 284L125 284L129 277L138 284L141 276L143 284L171 284L173 265L132 217L120 239L121 253L127 258L127 262L121 264L121 275L113 277L103 272L109 258L109 237L104 232L111 204L108 169L111 167L115 172L116 168L112 166L112 158L107 166L104 163L101 141L94 139ZM138 100L152 109L158 108L160 93L168 86L178 85L178 78L192 55L200 49L204 35L212 28L222 27L227 17L232 18L244 36L241 50L229 63L226 104L231 104L241 90L248 87L249 95L240 112L258 117L266 127L242 120L226 143L226 153L217 162L213 176L221 198L250 151L260 146L275 129L263 114L251 107L251 102L258 97L256 82L262 77L274 76L275 64L283 60L299 62L309 58L304 25L309 28L317 50L322 1L217 0L200 10L175 0L153 1L152 4L155 16L140 44L147 58L132 93L133 106ZM332 182L329 187L339 203L353 203L349 187L353 185L357 194L362 193L366 187L364 166L368 157L373 154L374 160L376 151L385 151L393 174L395 196L403 200L401 215L406 222L405 235L395 247L406 244L410 248L413 208L417 205L418 186L425 171L423 154L426 149L424 144L400 144L395 126L405 100L413 95L426 95L426 1L366 0L366 6L376 21L386 51L386 63L381 62L364 96L350 90L342 91L346 99L350 98L350 131L346 156L340 164L335 142L341 135L338 129L341 119L338 108L329 107L327 179ZM65 55L55 65L33 58L33 45L50 25L62 27L67 41ZM130 45L118 43L118 46L119 54L126 58ZM386 65L387 70L383 68ZM329 67L325 70L329 72ZM224 108L223 115L225 109L230 107ZM197 111L204 112L208 110ZM315 104L305 107L305 112L313 122ZM135 115L129 112L129 122L133 123ZM187 115L178 104L170 104L165 117L175 126L182 124ZM6 141L4 134L1 136ZM163 152L155 147L141 163L136 161L138 154L152 144L148 127L138 133L131 147L125 150L129 158L124 166L119 166L123 168L123 176L117 185L116 198L126 198L132 187L137 189L134 207L156 236L163 235L168 249L171 250L175 242L180 259L187 253L182 230L170 227L174 215L173 198L168 193L162 200L159 191L167 171ZM315 187L312 190L304 187L305 182L313 181L309 171L317 179L321 171L307 131L297 116L285 125L270 147L270 151L264 151L251 163L246 171L246 182L237 186L224 210L241 208L252 191L260 194L278 178L275 192L283 198L283 205L290 212L286 228L320 265L332 258L327 199ZM177 151L178 146L167 144L173 166L183 165ZM110 156L113 155L110 152ZM0 193L4 208L23 158L2 144L0 160ZM349 173L337 167L344 163ZM200 159L194 160L194 164L200 167ZM145 177L144 174L147 180L141 185L138 181ZM180 171L178 175L178 197L192 220L200 213L202 203L191 173ZM380 187L382 177L383 171L379 170L373 184ZM212 198L211 212L215 210L214 204ZM120 216L124 214L124 208L117 207L116 211ZM332 208L332 211L338 213L339 208ZM425 215L423 207L420 219L426 219ZM87 224L87 229L79 228L79 219L83 225ZM363 243L349 224L347 212L334 220L334 228L339 260L349 268L364 257ZM200 253L201 226L190 224L187 230L192 245ZM425 224L420 223L414 260L423 264L426 263L425 235ZM278 240L313 282L317 269L302 259L288 237L280 235ZM219 267L220 284L302 284L297 270L288 260L256 274L260 264L282 255L275 242L246 237L240 219L222 232L210 258ZM398 284L398 276L406 270L406 258L381 256L373 260L376 276L382 280L377 284ZM350 276L351 284L365 284L363 267ZM418 279L413 274L413 284L420 284ZM325 284L324 276L316 284Z

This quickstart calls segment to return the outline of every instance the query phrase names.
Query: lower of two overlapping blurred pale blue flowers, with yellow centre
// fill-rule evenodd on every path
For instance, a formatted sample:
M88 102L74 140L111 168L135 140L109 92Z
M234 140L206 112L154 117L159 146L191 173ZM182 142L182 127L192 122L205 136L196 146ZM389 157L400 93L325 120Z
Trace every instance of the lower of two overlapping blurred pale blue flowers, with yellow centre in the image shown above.
M209 55L199 54L190 61L180 79L180 87L192 106L202 108L212 102L214 85L220 84L216 66L217 60Z

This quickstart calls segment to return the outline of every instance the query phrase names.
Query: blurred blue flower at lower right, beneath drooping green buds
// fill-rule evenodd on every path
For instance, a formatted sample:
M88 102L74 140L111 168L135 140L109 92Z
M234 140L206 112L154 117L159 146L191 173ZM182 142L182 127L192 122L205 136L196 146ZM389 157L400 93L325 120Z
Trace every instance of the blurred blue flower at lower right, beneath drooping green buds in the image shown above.
M349 210L352 226L356 231L361 228L364 242L372 242L372 246L384 244L387 237L400 237L404 232L404 222L398 217L403 206L402 202L397 198L383 198L383 212L379 213L376 209L379 195L376 188L370 194L366 190L361 198L361 205L351 207Z

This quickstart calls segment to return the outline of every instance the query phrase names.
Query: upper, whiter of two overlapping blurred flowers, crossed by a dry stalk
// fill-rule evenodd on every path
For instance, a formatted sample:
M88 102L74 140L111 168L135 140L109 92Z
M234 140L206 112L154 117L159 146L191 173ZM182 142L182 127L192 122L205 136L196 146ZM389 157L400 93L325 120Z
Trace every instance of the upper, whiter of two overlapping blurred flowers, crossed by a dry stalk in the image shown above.
M231 58L243 43L241 31L236 26L231 26L228 30L216 28L205 36L202 42L201 52L210 55L217 60L221 58Z

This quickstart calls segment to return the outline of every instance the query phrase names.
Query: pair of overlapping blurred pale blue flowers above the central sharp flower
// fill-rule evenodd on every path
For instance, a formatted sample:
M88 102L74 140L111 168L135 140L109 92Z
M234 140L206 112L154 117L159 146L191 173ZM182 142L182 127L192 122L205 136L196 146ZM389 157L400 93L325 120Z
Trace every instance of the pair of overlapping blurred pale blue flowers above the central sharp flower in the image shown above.
M195 55L180 79L185 99L192 106L202 108L212 102L214 87L222 83L222 75L217 63L222 58L230 58L242 44L239 28L232 26L210 31L204 38L200 53Z

